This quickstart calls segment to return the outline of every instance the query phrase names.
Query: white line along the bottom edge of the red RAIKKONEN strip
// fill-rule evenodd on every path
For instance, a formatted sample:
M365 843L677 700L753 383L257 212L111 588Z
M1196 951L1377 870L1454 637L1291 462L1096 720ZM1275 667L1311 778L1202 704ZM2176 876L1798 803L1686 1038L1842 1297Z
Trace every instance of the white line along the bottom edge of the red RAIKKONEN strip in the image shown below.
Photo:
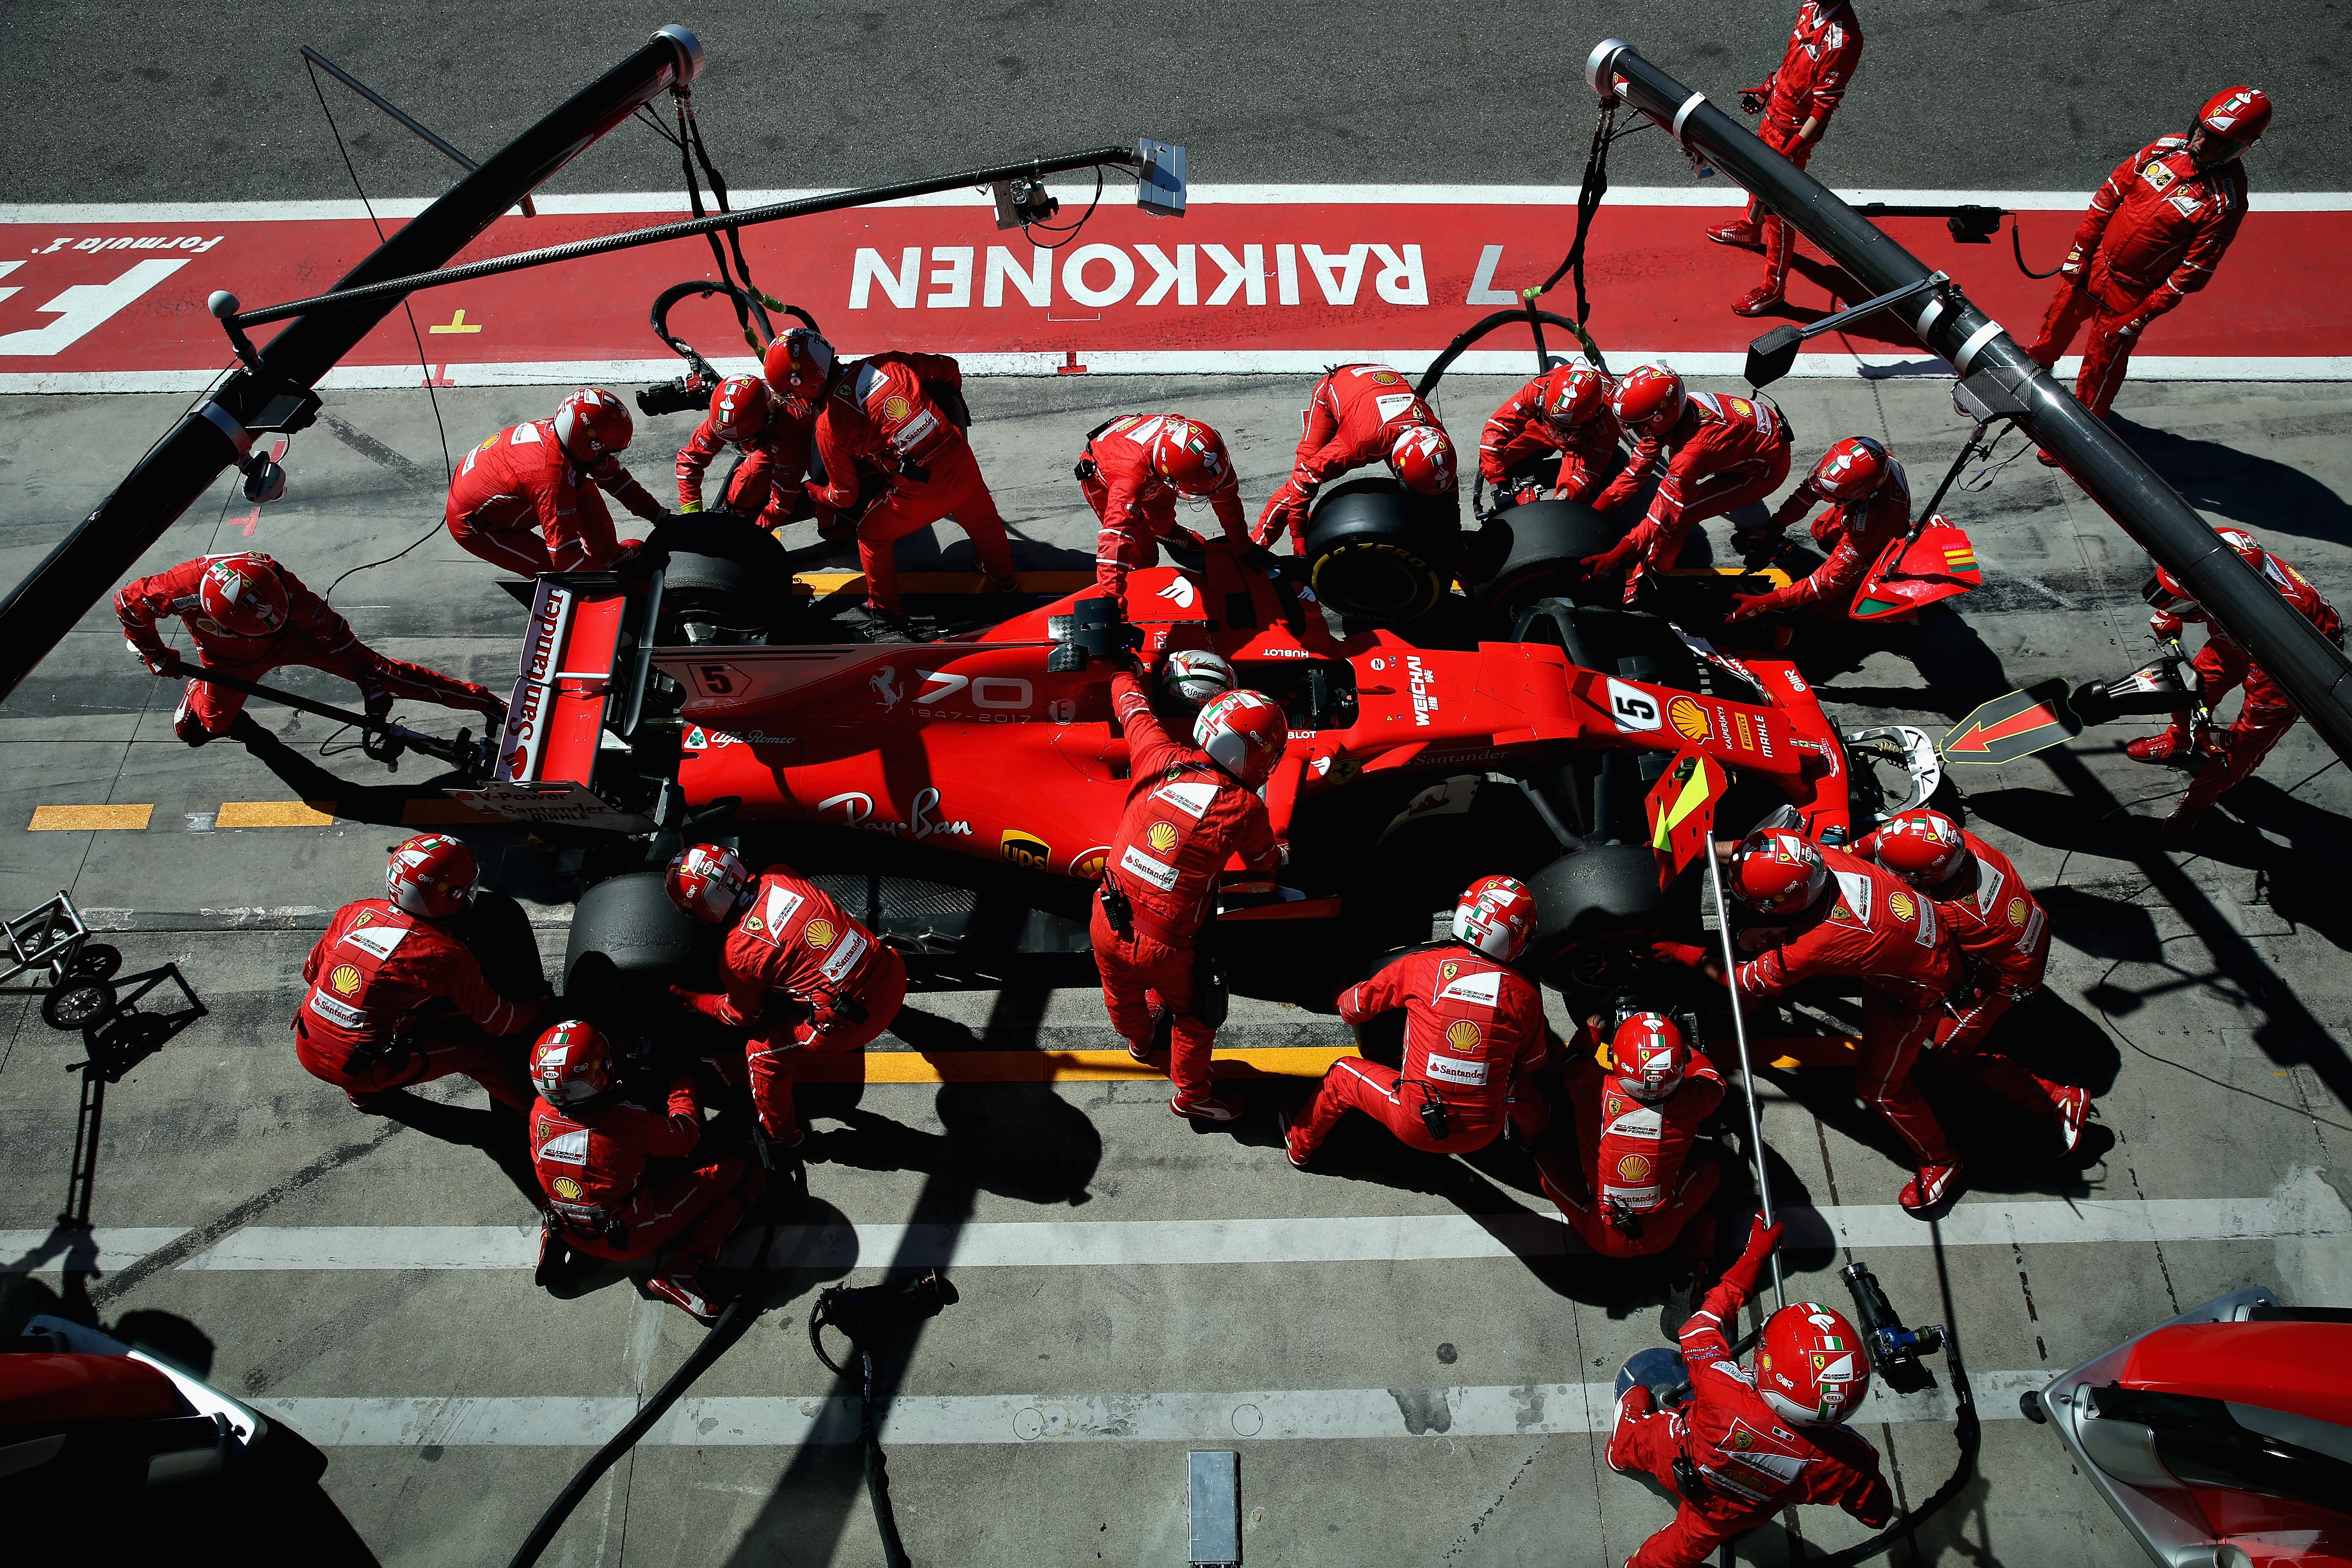
M1738 376L1748 367L1745 355L1733 353L1672 353L1656 348L1606 348L1611 369L1665 360L1686 376ZM1430 348L1251 348L1251 350L1103 350L1087 353L1087 371L1094 376L1315 376L1334 360L1371 360L1385 364L1428 364ZM1061 353L967 353L957 355L967 376L1058 376ZM736 374L750 360L713 360L720 374ZM595 381L668 381L677 371L677 360L515 360L492 364L437 367L445 381L437 386L583 386ZM1952 367L1926 350L1910 355L1849 355L1804 353L1797 355L1792 378L1835 378L1867 371L1950 376ZM743 374L750 374L743 369ZM1472 348L1449 369L1454 376L1526 376L1531 355L1524 348ZM2082 374L2082 357L2058 362L2058 381L2072 386ZM2352 381L2352 357L2343 355L2136 355L2131 360L2133 381ZM7 371L0 374L0 395L19 393L202 393L216 371L162 369L162 371ZM414 364L346 364L320 378L329 393L407 390L421 386L423 376ZM1439 397L1444 388L1439 386Z

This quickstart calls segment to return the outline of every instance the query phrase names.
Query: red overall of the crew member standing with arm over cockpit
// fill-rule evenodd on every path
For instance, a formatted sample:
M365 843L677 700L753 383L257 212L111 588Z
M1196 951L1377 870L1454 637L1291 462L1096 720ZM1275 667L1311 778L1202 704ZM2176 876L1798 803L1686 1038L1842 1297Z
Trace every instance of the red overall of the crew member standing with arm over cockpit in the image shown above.
M1152 1013L1169 1013L1176 1098L1202 1103L1211 1098L1216 1030L1192 1011L1192 943L1225 863L1240 856L1251 875L1272 877L1282 849L1265 802L1207 752L1171 741L1152 715L1143 682L1127 670L1112 675L1110 705L1127 733L1134 785L1103 860L1103 879L1127 896L1134 914L1122 936L1110 926L1103 900L1094 900L1089 929L1094 964L1103 973L1103 1006L1110 1027L1134 1048L1150 1046Z

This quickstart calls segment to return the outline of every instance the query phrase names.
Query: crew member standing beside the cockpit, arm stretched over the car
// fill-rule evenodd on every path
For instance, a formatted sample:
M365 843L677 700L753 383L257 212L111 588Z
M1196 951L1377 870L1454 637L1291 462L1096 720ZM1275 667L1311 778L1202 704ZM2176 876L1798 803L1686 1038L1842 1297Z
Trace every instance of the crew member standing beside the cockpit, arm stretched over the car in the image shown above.
M1192 745L1169 738L1134 670L1110 677L1110 708L1127 733L1127 811L1103 860L1089 931L1103 973L1103 1009L1138 1063L1152 1058L1155 1016L1169 1016L1169 1110L1195 1121L1242 1114L1214 1093L1209 1056L1216 1018L1195 947L1216 903L1225 860L1272 877L1282 846L1258 788L1289 752L1282 705L1258 691L1211 698L1192 722Z

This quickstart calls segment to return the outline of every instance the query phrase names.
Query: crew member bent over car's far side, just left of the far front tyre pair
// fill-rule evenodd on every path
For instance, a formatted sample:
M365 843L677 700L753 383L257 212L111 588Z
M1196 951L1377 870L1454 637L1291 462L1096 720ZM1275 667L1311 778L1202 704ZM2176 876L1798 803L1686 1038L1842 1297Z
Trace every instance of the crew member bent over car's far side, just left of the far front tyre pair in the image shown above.
M1183 414L1122 414L1087 433L1077 458L1077 482L1087 505L1101 517L1094 541L1094 581L1127 604L1127 574L1160 564L1160 541L1200 548L1192 529L1178 527L1176 498L1207 501L1225 538L1249 543L1242 517L1242 482L1225 454L1225 437Z

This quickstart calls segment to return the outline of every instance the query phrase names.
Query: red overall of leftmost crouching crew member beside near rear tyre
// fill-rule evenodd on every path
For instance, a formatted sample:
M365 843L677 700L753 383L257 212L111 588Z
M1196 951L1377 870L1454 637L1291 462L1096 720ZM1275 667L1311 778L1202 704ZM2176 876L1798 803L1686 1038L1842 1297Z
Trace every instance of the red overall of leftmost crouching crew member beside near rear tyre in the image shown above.
M310 1077L367 1095L463 1072L501 1105L532 1105L522 1053L539 1004L494 992L480 959L423 914L390 898L346 903L301 978L294 1056ZM435 1004L459 1016L419 1018Z

